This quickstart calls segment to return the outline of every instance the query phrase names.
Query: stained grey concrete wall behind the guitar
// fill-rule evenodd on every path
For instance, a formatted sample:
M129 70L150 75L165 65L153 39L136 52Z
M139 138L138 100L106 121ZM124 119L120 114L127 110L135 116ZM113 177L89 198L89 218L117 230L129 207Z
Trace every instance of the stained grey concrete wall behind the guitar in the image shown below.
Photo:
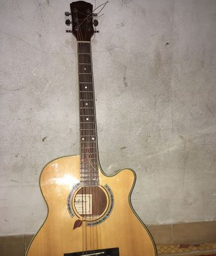
M41 169L79 151L68 10L0 1L1 236L38 230ZM110 0L103 12L92 42L103 170L135 170L147 224L216 220L216 1Z

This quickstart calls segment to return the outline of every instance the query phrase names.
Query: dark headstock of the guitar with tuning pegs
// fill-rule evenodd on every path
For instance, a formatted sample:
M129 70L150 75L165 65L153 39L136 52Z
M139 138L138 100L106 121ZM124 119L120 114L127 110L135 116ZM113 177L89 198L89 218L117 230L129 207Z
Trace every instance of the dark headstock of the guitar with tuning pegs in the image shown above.
M92 4L85 1L76 1L70 4L71 13L66 12L66 16L71 15L72 21L66 20L66 25L72 24L72 32L77 41L90 41L95 33L94 14Z

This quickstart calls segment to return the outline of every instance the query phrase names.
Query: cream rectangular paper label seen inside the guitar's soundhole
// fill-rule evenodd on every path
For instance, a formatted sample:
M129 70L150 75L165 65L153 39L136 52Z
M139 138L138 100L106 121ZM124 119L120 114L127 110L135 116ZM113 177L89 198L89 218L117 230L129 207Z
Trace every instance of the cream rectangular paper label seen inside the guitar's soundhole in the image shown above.
M92 195L76 194L75 207L79 215L92 215Z

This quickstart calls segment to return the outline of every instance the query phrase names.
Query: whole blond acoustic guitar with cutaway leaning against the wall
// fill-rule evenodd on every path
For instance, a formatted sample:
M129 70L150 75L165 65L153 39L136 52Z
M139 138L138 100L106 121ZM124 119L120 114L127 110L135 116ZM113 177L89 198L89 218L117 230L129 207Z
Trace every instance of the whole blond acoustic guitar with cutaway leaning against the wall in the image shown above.
M40 188L48 215L33 237L27 256L155 256L154 240L131 205L136 175L120 170L107 176L99 165L91 38L92 4L70 4L77 40L80 154L45 166Z

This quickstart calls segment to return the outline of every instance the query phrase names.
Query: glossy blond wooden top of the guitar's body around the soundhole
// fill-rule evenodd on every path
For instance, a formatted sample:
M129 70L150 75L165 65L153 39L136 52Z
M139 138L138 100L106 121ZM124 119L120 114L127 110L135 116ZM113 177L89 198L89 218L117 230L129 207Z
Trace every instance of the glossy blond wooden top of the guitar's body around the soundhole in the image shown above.
M66 156L48 163L40 177L48 215L32 239L27 256L64 256L65 253L93 252L104 248L119 248L120 256L156 255L150 233L131 206L130 195L136 178L134 172L124 169L115 176L106 176L100 171L99 176L108 205L98 217L101 223L87 226L87 223L92 223L91 220L83 220L82 225L75 227L80 216L73 209L73 202L71 211L75 214L71 216L67 204L68 198L73 199L72 194L78 190L80 156ZM107 192L107 188L112 193ZM110 211L109 205L112 205L111 213L103 220L103 216Z

